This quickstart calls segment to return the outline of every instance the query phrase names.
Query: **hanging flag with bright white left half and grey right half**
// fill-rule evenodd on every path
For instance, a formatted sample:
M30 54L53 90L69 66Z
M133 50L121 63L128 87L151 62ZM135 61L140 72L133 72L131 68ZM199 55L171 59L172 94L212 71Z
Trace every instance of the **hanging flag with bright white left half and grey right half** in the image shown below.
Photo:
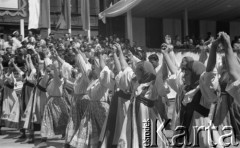
M28 0L28 29L50 27L50 0Z

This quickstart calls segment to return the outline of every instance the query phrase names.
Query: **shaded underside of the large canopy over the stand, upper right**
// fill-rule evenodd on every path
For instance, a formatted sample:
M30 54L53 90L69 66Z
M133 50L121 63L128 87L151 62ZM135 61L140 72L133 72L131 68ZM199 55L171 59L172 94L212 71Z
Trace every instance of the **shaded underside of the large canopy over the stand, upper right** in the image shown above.
M133 16L182 18L187 8L189 19L240 19L239 0L142 0L132 9Z

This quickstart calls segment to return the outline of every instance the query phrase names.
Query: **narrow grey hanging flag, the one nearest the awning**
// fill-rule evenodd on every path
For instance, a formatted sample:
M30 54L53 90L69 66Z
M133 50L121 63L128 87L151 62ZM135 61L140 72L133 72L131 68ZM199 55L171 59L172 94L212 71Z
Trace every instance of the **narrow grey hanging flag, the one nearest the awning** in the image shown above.
M83 30L90 30L90 6L89 0L81 0L81 17Z

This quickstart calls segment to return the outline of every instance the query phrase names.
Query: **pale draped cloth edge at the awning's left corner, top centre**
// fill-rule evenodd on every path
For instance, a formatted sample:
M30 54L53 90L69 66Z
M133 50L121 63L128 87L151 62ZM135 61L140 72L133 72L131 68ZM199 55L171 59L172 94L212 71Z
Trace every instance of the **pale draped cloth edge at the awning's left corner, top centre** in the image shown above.
M99 13L98 16L105 23L106 17L116 17L122 15L138 5L141 1L142 0L120 0L116 4Z

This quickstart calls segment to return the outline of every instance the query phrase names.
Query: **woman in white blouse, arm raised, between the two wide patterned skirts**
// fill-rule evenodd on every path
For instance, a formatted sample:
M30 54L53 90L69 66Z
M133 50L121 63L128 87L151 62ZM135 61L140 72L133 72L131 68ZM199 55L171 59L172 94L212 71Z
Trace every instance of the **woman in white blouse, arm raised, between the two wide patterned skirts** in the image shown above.
M75 67L77 71L72 71L75 75L75 81L72 83L66 80L66 84L73 89L73 97L71 99L70 117L66 129L65 148L70 147L70 142L80 126L80 121L86 109L86 104L81 100L86 95L87 87L90 83L88 73L91 70L91 64L87 61L85 55L76 49ZM71 70L71 69L70 69Z

